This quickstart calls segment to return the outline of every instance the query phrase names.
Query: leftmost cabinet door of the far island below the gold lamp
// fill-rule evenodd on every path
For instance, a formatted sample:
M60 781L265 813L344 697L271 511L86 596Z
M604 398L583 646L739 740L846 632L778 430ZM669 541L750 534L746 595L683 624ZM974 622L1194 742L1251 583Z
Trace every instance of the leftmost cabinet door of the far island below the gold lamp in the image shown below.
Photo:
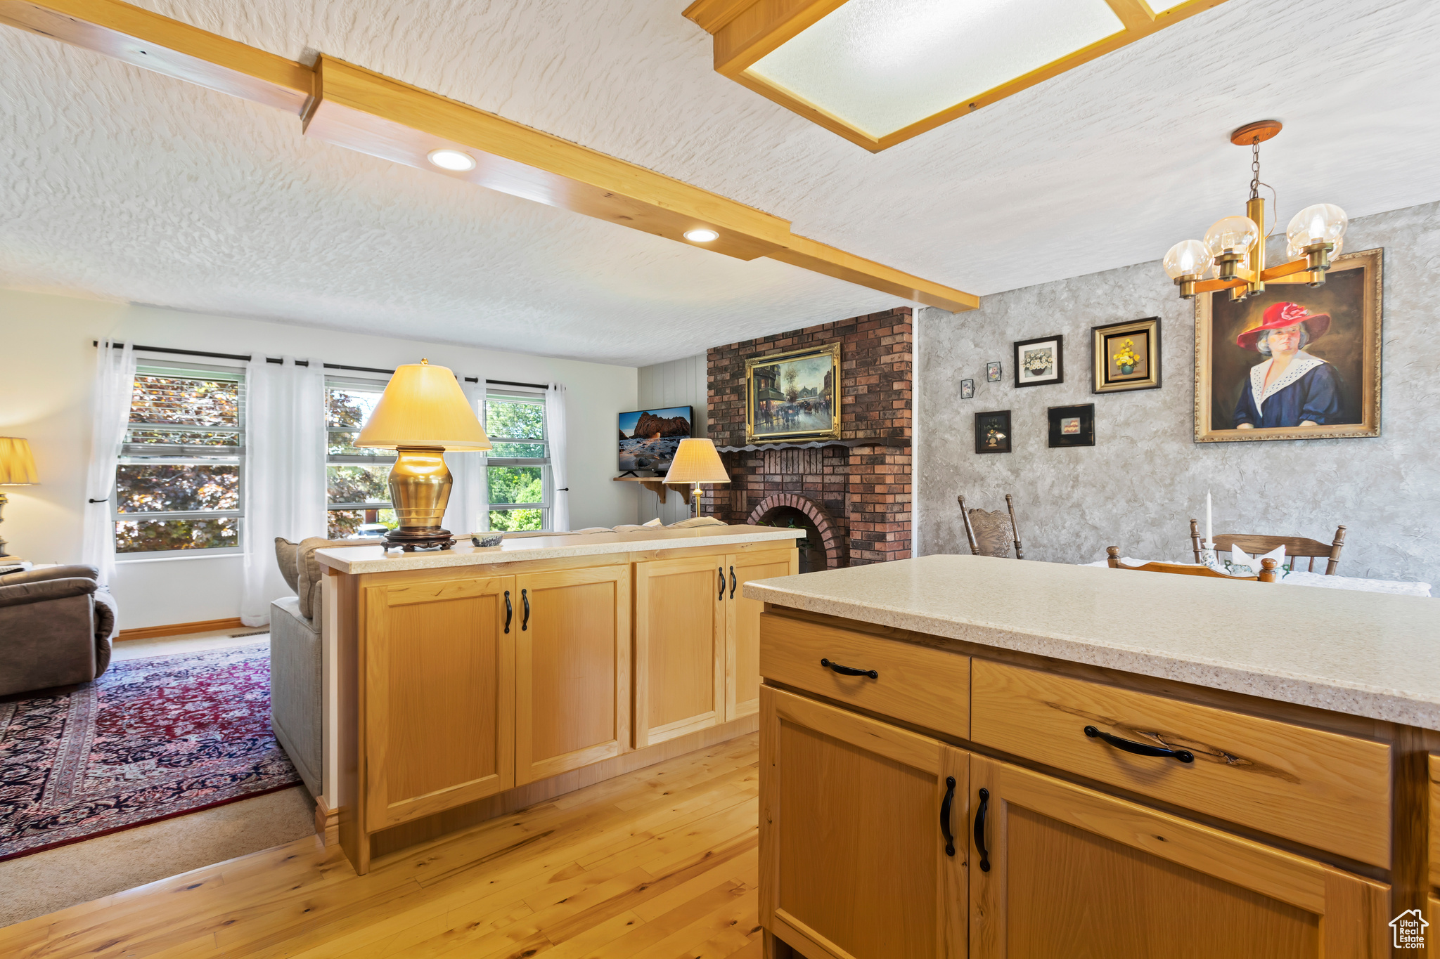
M505 592L511 577L366 588L366 830L516 784Z

